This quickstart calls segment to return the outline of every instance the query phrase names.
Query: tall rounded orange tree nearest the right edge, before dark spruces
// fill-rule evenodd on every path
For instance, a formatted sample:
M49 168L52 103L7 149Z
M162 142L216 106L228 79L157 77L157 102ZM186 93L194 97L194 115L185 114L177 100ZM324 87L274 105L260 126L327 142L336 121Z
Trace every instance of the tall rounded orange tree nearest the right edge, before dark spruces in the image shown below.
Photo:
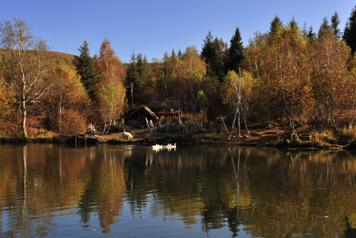
M331 117L334 131L339 130L343 105L354 100L354 80L347 80L350 57L350 48L331 30L322 31L309 48L317 120L323 124Z

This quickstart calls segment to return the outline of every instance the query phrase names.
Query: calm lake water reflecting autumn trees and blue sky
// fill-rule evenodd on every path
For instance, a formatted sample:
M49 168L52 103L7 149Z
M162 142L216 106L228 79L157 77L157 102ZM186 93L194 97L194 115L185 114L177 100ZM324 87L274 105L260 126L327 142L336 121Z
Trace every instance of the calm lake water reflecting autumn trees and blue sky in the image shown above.
M0 237L356 237L356 154L0 145Z

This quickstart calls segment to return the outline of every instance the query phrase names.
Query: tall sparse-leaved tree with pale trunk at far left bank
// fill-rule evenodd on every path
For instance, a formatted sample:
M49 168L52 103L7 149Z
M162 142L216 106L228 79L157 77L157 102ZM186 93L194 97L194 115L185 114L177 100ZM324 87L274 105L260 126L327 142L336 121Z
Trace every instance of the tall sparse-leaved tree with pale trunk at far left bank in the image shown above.
M27 103L37 103L48 87L43 84L43 74L47 67L47 43L34 38L31 28L24 20L13 18L0 22L0 46L10 49L5 57L6 75L1 78L15 100L19 103L22 115L21 129L23 137L27 137L26 114Z

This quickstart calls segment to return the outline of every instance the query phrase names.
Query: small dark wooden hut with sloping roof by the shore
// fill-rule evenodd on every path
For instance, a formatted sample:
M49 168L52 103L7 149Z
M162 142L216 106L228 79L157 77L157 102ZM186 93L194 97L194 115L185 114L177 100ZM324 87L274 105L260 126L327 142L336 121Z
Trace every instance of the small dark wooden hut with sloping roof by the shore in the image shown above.
M149 108L144 107L143 105L136 111L130 113L129 116L125 119L126 123L134 127L145 127L147 121L152 120L153 123L158 122L158 118L155 113L153 113Z

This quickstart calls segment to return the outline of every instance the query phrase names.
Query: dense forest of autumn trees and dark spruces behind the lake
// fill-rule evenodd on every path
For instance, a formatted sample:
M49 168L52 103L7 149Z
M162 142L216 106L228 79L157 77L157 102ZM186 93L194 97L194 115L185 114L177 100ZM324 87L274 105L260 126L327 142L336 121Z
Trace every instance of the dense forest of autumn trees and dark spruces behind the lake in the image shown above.
M343 32L335 12L317 32L276 15L270 31L246 47L236 28L229 43L211 32L201 51L167 51L149 62L132 52L124 64L104 39L79 56L49 51L24 20L0 23L0 136L85 133L147 105L180 109L207 124L240 115L247 123L278 124L288 133L354 130L356 122L356 9ZM240 120L238 123L240 124ZM234 124L234 121L232 124Z

